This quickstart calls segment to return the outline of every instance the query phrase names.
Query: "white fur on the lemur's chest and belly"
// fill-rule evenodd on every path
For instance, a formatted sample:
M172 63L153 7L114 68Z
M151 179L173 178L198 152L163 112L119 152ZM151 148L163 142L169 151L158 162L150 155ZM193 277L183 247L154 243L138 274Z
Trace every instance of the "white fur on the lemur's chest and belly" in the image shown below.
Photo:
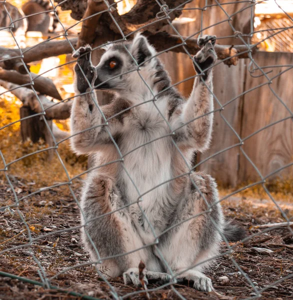
M156 102L159 111L152 102L132 109L131 115L124 120L125 130L119 143L120 151L125 156L124 168L121 167L118 172L118 181L123 185L125 199L128 203L135 202L142 195L140 206L156 233L165 229L164 220L167 218L160 217L161 213L165 213L161 207L165 207L165 201L170 200L166 198L169 183L159 184L172 177L171 138L165 136L170 129L161 116L165 117L166 104L164 99L159 99ZM141 235L153 239L137 204L131 205L129 210Z

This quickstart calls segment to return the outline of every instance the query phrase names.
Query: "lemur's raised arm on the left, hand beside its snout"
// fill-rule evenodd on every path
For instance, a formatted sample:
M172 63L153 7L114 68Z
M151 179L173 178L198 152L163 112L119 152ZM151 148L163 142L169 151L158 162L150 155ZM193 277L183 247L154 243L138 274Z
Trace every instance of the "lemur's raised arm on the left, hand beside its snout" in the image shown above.
M73 150L78 154L95 152L98 145L111 142L110 135L114 138L122 128L119 111L125 109L123 101L120 101L119 106L115 103L103 106L97 104L95 92L84 77L85 75L93 87L96 69L91 63L90 50L89 46L81 47L73 54L73 57L78 57L78 63L75 65L76 97L71 109L70 127L73 136L70 141Z

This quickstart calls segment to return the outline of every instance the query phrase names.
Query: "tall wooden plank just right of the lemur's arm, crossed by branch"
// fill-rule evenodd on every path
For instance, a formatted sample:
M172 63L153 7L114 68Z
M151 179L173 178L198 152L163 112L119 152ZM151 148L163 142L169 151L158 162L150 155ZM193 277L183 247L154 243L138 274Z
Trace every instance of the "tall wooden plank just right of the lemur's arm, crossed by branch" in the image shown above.
M201 1L200 5L204 5ZM203 34L214 34L218 37L227 36L226 38L218 39L218 44L243 44L241 39L234 37L234 30L242 33L250 32L251 9L250 3L238 1L236 4L224 4L230 2L228 0L221 1L221 7L211 6L203 12L203 27L208 27ZM211 4L211 1L208 1ZM202 6L201 6L202 7ZM244 9L246 7L246 9ZM239 13L237 11L242 10ZM228 16L232 15L231 22L227 21ZM248 25L247 25L248 24ZM245 37L247 40L247 37ZM214 68L214 95L217 97L221 105L224 105L229 100L235 98L243 91L244 82L244 62L239 61L236 66L230 68L223 63ZM225 106L224 110L214 113L213 136L210 148L205 153L199 153L198 161L204 160L210 155L222 151L239 143L237 135L233 132L230 126L240 134L241 124L241 97L236 98L230 104ZM219 108L217 101L214 100L215 108ZM223 119L225 117L226 121ZM232 147L225 150L212 159L208 159L199 166L199 169L204 170L214 176L218 183L222 185L235 186L238 183L238 159L239 147Z

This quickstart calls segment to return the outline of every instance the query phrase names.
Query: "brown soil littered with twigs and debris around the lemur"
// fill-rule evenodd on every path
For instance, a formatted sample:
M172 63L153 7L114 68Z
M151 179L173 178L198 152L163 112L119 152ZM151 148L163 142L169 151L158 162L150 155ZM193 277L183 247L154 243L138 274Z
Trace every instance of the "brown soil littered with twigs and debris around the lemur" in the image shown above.
M17 177L10 179L18 199L34 191L29 182ZM71 188L77 191L78 197L78 184L72 184ZM109 280L110 288L99 278L94 267L87 264L89 257L82 248L76 228L79 225L78 206L68 187L40 191L20 200L18 206L1 209L13 204L15 198L10 186L0 180L0 252L6 250L0 254L0 271L42 282L40 277L44 275L39 263L54 288L0 273L1 300L79 299L80 294L103 299L113 298L113 292L129 299L147 298L142 289L124 285L121 277ZM279 203L279 206L292 218L292 204ZM179 299L177 293L186 299L243 299L255 296L256 290L261 290L263 299L293 299L292 234L287 227L271 230L257 227L284 222L277 207L268 201L232 197L224 201L223 207L227 217L243 224L251 238L244 243L230 243L233 252L219 257L207 272L216 292L199 292L180 284L165 288L152 284L148 286L150 299ZM54 232L56 230L59 231ZM30 238L38 238L31 247L27 246ZM223 244L222 252L225 251L227 246ZM157 289L151 291L154 288ZM134 291L138 293L127 296Z

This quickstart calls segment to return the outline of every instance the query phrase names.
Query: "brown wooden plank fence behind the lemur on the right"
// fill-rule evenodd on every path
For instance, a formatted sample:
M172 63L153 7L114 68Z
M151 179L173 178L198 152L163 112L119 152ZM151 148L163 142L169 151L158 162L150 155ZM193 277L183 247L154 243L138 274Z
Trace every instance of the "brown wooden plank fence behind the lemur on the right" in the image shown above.
M173 56L172 64L166 63L173 82L194 74L187 55L164 55L166 56L162 59L165 63L166 59L170 61L170 55ZM197 162L230 147L198 167L223 185L235 186L241 182L260 180L240 146L233 146L240 142L238 136L241 139L248 137L241 148L263 176L293 162L293 118L289 118L290 113L284 106L285 104L293 111L293 53L260 51L253 58L264 72L271 70L267 74L269 78L284 72L269 83L265 76L258 76L261 74L259 70L249 72L249 59L239 61L236 66L228 67L221 63L214 67L214 95L221 105L230 102L224 106L224 110L214 113L211 146L205 153L198 154ZM183 94L188 95L192 80L178 87ZM220 107L216 100L214 103L215 108ZM280 121L286 117L286 120ZM274 125L264 128L274 122ZM260 131L255 133L258 130ZM249 137L251 134L253 135ZM293 178L293 166L273 174L268 180L275 176Z

